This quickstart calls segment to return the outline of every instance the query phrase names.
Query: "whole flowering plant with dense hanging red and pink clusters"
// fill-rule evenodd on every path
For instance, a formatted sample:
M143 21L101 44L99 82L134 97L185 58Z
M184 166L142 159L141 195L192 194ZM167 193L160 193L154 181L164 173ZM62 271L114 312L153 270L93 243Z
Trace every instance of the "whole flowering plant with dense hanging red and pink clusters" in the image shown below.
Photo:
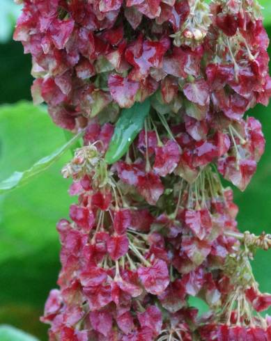
M271 237L238 231L220 179L244 191L265 147L260 122L244 118L271 96L261 6L20 2L14 36L33 58L33 100L76 134L68 147L84 141L62 170L78 202L57 225L49 340L271 340L259 314L271 295L249 262Z

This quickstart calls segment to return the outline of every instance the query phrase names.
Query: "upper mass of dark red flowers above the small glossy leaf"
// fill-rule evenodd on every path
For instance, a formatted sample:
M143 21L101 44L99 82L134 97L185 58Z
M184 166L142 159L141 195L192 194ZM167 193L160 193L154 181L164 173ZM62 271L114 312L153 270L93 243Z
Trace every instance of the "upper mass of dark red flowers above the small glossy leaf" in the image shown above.
M191 101L188 116L238 120L270 95L268 37L255 1L239 2L25 0L15 39L33 56L36 102L62 127L157 88L167 104Z

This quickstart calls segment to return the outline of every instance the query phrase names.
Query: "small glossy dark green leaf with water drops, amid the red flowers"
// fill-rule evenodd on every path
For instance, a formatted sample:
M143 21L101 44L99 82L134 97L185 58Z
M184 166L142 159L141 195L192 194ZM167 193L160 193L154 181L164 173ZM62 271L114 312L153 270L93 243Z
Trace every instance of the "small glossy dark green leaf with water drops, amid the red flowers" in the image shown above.
M105 154L108 164L114 164L127 152L144 126L144 120L149 111L150 100L146 100L143 103L137 102L130 109L124 109L121 112L107 154Z

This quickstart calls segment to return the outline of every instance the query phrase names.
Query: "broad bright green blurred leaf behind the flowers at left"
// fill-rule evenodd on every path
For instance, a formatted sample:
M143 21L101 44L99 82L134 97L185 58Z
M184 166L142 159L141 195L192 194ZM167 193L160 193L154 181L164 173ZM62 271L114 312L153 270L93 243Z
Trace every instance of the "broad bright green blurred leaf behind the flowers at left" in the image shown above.
M44 109L27 102L0 106L0 180L15 170L30 168L43 155L51 154L65 143L63 130L54 125ZM41 275L37 273L40 271L38 262L45 262L47 255L51 257L48 262L54 264L52 275L47 271L50 273L49 284L52 285L56 280L57 270L54 269L59 267L59 239L55 226L61 217L67 216L69 204L72 202L67 193L69 181L63 179L60 170L70 158L70 153L65 153L56 164L39 177L33 178L26 186L0 196L0 263L1 269L4 267L0 274L1 303L13 284L12 278L17 276L22 267L27 269L25 273L21 271L24 280L17 278L15 282L20 280L22 285L25 281L27 285L24 294L20 290L20 297L37 299L42 288L36 290L31 287L32 281L27 280L30 276L29 267L31 276L38 283L38 276ZM43 253L42 257L38 257L38 252ZM16 259L23 261L26 255L29 255L28 260L25 259L22 264L16 263ZM42 267L47 265L43 264ZM43 283L47 283L45 278ZM45 291L47 290L49 285L45 284ZM12 299L14 292L10 294ZM45 296L41 297L40 301L42 299L44 300Z

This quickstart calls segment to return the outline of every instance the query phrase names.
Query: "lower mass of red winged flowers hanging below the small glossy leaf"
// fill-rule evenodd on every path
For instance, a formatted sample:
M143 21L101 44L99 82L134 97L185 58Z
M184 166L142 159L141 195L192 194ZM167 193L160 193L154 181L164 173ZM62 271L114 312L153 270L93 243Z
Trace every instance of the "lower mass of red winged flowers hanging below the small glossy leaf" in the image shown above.
M236 230L232 192L206 168L192 185L177 182L168 198L173 213L150 213L146 203L155 205L167 183L155 170L146 173L143 159L109 168L103 159L109 128L89 125L86 146L63 168L79 201L70 206L72 222L58 225L61 290L51 292L42 321L51 324L50 340L167 340L171 333L192 340L196 310L190 311L187 297L201 292L212 306L227 293L221 270L237 245L224 235ZM139 150L146 150L142 135ZM92 138L100 141L97 147ZM165 168L155 159L157 171L177 161L178 143L169 142L148 148L162 159L166 150L171 156Z

